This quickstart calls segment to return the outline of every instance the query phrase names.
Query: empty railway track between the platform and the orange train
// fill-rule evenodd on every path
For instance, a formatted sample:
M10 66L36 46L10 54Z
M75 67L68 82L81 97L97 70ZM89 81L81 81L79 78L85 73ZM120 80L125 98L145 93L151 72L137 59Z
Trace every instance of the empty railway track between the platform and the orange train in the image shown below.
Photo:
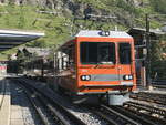
M17 80L18 81L18 80ZM68 108L62 106L59 103L59 100L55 98L50 92L48 92L46 88L43 87L37 87L32 84L30 84L25 80L19 80L19 84L23 85L27 91L28 96L31 98L31 102L33 103L35 111L38 112L42 123L44 125L50 125L51 122L46 118L46 116L43 116L43 113L41 110L37 108L38 105L43 105L46 107L46 110L50 112L50 116L52 116L52 121L54 121L54 124L59 125L85 125L84 122L82 122L79 117L73 115ZM25 84L24 84L25 83ZM30 95L31 93L35 93L34 95ZM37 100L38 98L38 100ZM39 103L40 102L40 103ZM53 125L54 125L53 124Z

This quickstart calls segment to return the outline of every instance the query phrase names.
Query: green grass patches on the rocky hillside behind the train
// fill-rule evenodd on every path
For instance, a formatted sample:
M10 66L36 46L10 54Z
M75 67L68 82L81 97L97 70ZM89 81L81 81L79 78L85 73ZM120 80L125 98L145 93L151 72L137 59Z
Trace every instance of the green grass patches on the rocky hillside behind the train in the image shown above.
M106 10L108 13L118 13L123 11L128 11L128 13L135 15L134 19L137 25L144 25L145 21L145 13L153 12L154 9L152 7L147 8L124 8L121 7L121 0L75 0L82 3L90 3L96 10ZM118 6L117 6L118 2ZM125 7L128 4L125 3ZM56 17L53 14L46 13L38 13L37 10L46 10L52 11L48 8L39 8L32 6L0 6L0 29L19 29L19 30L35 30L35 31L44 31L45 37L35 40L33 42L27 43L28 46L53 46L54 44L61 44L62 42L66 41L71 37L71 25L72 25L72 15L69 13L63 13L61 17ZM66 15L68 17L64 17ZM121 13L123 15L123 13ZM118 20L118 19L117 19ZM83 28L80 28L83 25ZM76 20L75 24L73 25L73 30L77 32L81 29L91 29L96 30L100 25L102 29L105 30L113 30L115 25L118 27L120 30L127 29L127 25L117 23L116 21L111 21L108 23L105 22L92 22L84 20ZM156 20L151 22L153 28L157 28L160 25ZM0 60L7 58L8 54L14 53L17 48L4 51L0 55Z

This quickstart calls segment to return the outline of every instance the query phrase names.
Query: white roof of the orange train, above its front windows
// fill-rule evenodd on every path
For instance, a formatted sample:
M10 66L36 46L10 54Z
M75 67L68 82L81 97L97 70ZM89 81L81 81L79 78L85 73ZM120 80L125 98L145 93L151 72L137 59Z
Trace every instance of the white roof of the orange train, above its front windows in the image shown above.
M85 38L125 38L125 39L132 39L132 35L129 35L127 32L124 31L106 31L108 34L103 35L103 31L101 30L82 30L80 31L75 37L85 37Z

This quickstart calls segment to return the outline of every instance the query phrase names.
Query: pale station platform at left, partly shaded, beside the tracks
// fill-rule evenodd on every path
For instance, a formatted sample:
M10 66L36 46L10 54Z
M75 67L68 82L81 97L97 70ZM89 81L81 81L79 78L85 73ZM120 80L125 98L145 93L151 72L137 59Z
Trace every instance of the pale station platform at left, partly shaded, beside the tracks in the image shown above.
M15 76L15 75L14 75ZM40 125L23 90L9 79L0 80L0 125Z

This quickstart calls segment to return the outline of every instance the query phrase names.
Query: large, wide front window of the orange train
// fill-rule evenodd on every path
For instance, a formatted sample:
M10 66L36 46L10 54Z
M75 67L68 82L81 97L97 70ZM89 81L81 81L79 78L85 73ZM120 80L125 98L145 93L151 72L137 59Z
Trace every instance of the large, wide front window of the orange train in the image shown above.
M81 42L82 64L114 64L115 44L112 42Z

